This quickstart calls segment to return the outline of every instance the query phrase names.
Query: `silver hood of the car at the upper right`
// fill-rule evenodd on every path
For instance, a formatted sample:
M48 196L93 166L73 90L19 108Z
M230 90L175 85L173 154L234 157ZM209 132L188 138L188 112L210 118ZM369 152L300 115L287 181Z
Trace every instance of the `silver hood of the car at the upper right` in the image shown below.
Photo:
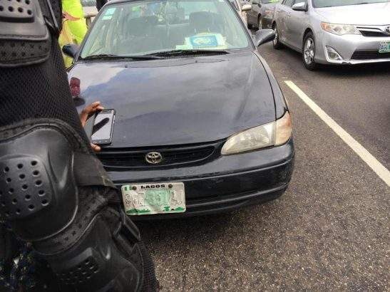
M390 24L390 2L324 7L315 11L332 24Z

